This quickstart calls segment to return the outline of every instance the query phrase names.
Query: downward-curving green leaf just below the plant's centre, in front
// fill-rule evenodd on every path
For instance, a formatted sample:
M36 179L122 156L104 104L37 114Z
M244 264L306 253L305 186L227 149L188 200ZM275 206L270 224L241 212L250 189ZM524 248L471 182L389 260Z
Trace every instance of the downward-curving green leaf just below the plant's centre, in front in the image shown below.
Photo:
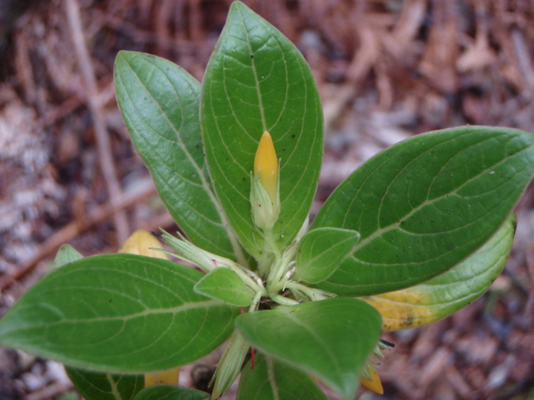
M352 298L247 312L236 318L236 328L260 352L313 374L343 399L354 398L381 325L375 308Z

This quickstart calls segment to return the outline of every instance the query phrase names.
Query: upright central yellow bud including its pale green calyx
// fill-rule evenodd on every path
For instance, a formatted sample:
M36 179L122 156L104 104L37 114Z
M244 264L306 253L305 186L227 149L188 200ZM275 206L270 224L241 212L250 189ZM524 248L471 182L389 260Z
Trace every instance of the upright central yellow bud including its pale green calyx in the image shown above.
M273 228L280 214L278 184L278 159L273 139L269 132L263 132L254 157L251 206L254 223L264 231Z

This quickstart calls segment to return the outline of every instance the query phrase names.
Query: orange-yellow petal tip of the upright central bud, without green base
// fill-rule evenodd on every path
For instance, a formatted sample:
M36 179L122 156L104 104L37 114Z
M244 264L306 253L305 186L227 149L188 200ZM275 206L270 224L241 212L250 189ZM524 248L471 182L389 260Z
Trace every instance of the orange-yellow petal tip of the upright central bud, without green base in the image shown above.
M254 176L259 177L261 185L271 197L273 204L278 199L278 159L273 138L267 131L261 135L256 157L254 157Z

